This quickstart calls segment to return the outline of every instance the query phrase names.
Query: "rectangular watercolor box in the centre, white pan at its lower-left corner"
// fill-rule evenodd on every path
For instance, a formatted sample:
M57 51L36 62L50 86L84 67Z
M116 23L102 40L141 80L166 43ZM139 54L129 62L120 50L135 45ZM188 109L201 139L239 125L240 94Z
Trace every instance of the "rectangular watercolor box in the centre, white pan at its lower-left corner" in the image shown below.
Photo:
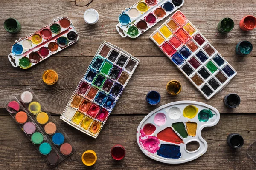
M96 138L138 64L131 54L103 41L61 119Z

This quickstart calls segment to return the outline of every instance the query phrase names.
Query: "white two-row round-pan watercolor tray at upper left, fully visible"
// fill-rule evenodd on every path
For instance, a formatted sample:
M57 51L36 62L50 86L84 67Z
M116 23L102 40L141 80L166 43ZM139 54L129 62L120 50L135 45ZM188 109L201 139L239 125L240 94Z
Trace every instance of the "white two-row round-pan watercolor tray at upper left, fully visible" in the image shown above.
M13 67L27 69L78 41L78 33L67 17L15 41L8 59Z

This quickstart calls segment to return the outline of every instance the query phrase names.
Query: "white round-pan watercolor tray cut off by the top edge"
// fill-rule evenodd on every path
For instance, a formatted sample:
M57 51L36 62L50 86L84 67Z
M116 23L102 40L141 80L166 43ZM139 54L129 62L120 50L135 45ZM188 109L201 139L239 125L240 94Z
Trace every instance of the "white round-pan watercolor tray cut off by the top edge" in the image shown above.
M122 37L136 38L183 6L184 0L140 0L125 8L118 17L116 30Z

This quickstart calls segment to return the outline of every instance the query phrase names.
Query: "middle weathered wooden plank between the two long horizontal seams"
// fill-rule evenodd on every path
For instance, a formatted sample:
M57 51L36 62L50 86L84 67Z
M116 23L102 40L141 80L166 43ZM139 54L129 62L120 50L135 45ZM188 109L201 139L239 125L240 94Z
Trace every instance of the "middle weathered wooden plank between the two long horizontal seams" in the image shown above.
M1 64L8 65L9 60L4 60L4 58L1 57L1 61L3 61ZM26 86L31 86L48 111L61 114L92 58L88 56L52 56L28 70L11 66L0 67L1 113L8 114L3 109L4 104L11 100L13 96L19 94L20 90L26 88ZM251 72L256 71L253 66L253 63L256 62L255 57L244 58L243 63L247 65L246 70L244 70L244 65L232 56L226 57L231 65L237 65L236 71L238 74L210 100L204 99L204 96L167 57L137 58L140 59L140 64L128 82L112 114L147 114L160 105L178 100L204 102L217 108L221 113L255 113L256 105L252 105L252 103L256 102L256 79L252 79L251 74ZM57 71L59 79L55 85L44 84L41 76L47 69ZM166 92L166 84L172 79L177 79L182 84L182 91L177 96L171 96ZM150 90L159 91L162 97L160 104L155 107L148 105L145 100L145 96ZM233 92L241 97L241 105L235 109L228 109L224 106L222 100L225 95ZM58 103L58 107L52 103ZM134 109L131 109L131 107Z

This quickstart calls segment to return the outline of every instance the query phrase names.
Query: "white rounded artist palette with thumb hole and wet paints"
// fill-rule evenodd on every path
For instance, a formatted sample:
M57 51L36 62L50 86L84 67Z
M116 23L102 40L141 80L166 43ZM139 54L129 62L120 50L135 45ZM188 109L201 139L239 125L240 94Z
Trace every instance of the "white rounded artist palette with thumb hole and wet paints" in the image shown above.
M149 113L137 129L137 143L143 153L156 161L180 164L192 161L207 151L202 138L204 127L214 126L220 113L210 105L179 101L163 105ZM197 150L189 151L186 145L198 142Z

